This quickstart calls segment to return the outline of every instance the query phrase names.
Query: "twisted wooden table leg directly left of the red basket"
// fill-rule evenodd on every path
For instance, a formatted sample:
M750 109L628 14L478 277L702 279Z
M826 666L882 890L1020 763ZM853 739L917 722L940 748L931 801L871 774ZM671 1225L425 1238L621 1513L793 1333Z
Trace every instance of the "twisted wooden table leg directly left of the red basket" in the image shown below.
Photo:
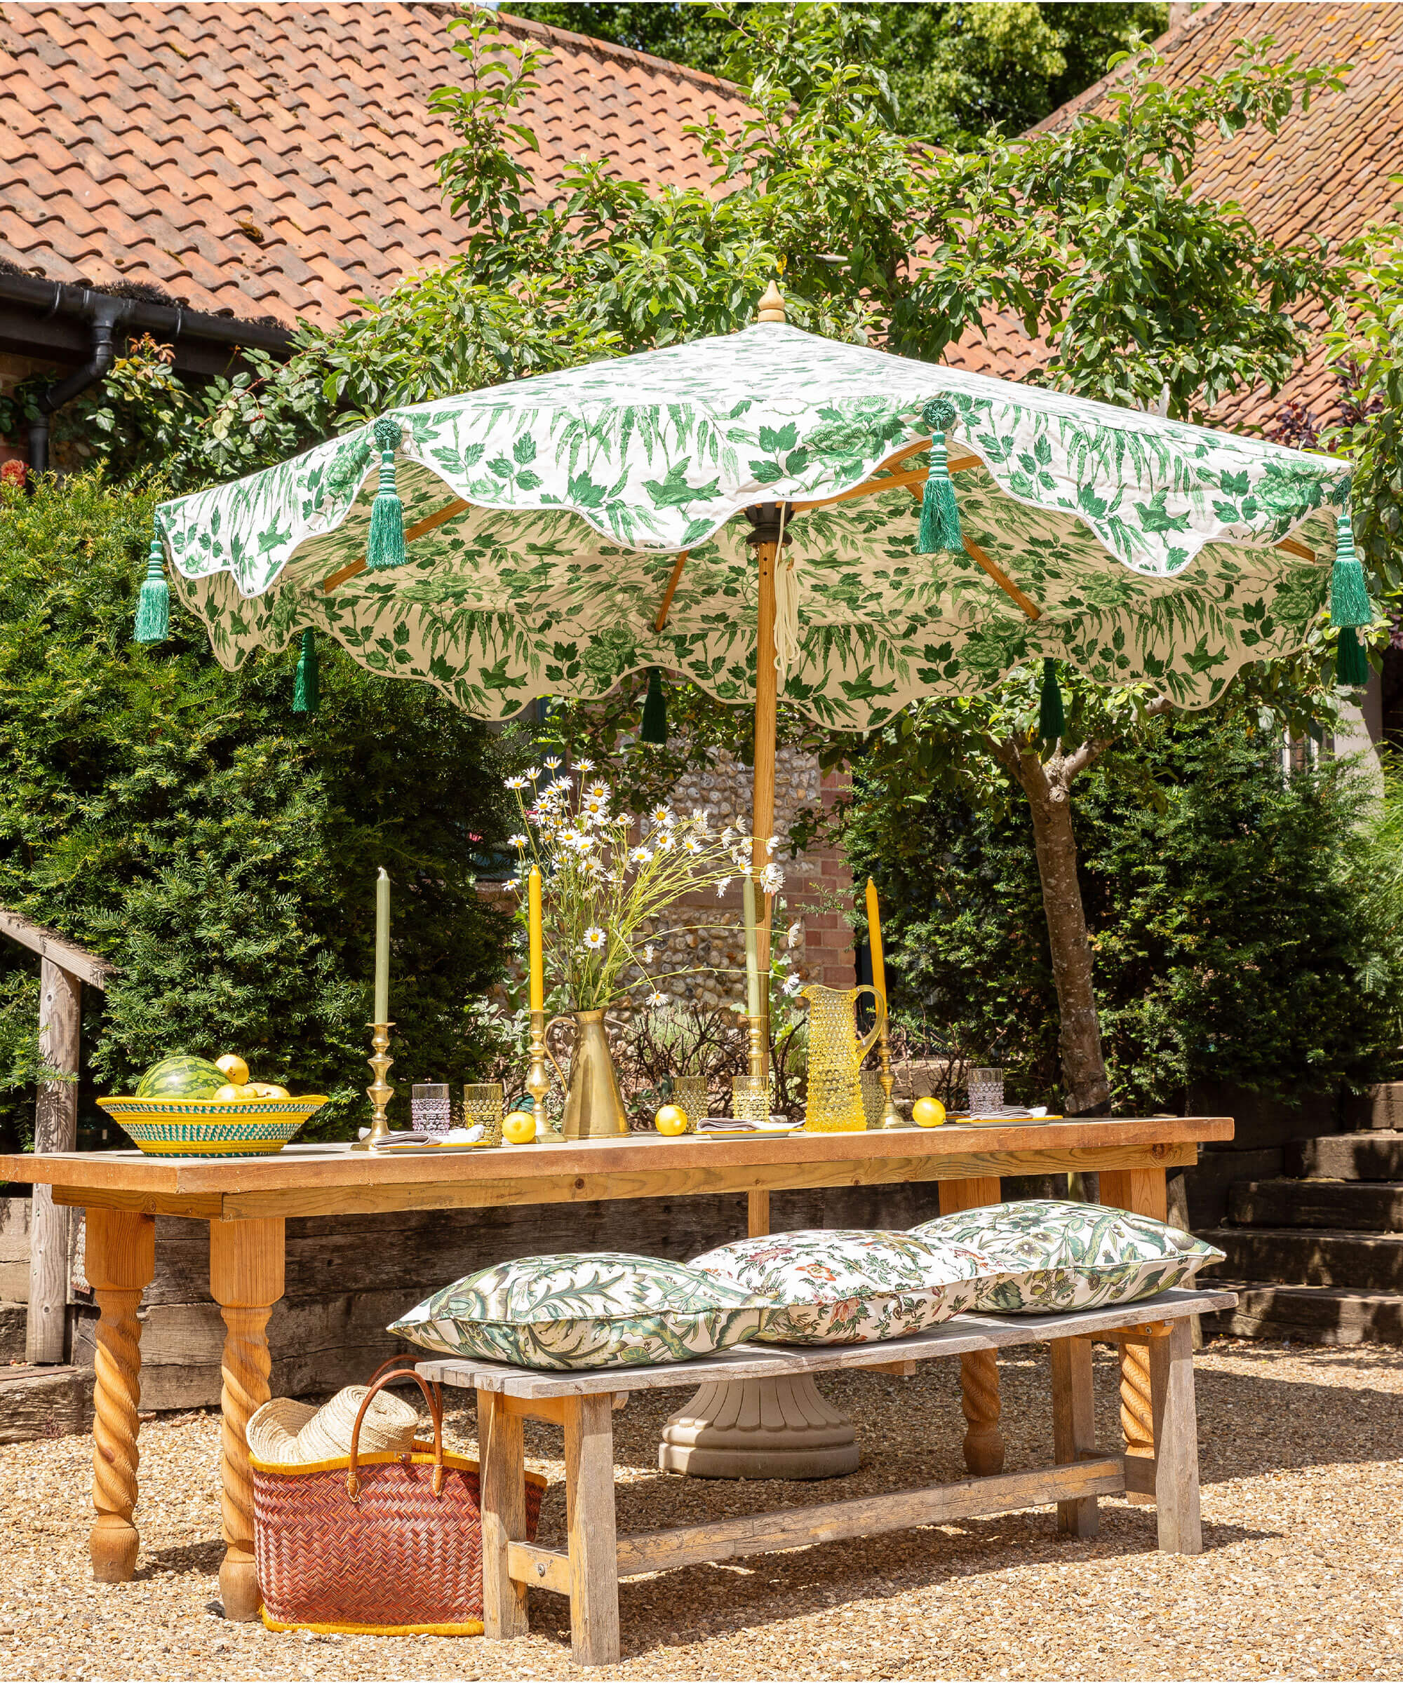
M224 1542L219 1567L224 1617L246 1624L258 1617L258 1570L253 1558L253 1474L244 1436L249 1415L268 1402L268 1316L283 1296L283 1217L209 1224L209 1289L224 1316L224 1387L219 1444Z

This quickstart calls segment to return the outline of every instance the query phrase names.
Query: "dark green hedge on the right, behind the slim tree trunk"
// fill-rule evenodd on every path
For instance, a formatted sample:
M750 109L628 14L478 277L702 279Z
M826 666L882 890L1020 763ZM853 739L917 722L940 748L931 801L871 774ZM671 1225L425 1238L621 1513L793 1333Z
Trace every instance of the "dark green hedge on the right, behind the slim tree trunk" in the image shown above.
M847 852L883 895L898 1011L926 1011L1004 1059L1021 1096L1056 1101L1026 804L894 793L859 774ZM1283 776L1280 735L1241 710L1160 720L1083 774L1080 879L1117 1111L1182 1111L1199 1079L1283 1096L1396 1067L1403 796L1361 830L1366 798L1347 762Z

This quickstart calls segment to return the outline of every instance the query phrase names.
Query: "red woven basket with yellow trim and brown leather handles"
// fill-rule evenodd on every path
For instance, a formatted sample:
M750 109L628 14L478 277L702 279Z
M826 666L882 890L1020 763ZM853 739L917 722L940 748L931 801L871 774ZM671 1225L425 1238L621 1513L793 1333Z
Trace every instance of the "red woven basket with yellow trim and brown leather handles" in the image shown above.
M360 1415L382 1385L413 1378L433 1447L360 1454ZM367 1388L350 1454L307 1466L249 1457L254 1558L269 1631L482 1636L482 1510L475 1461L443 1452L443 1397L411 1368ZM525 1535L546 1479L525 1474Z

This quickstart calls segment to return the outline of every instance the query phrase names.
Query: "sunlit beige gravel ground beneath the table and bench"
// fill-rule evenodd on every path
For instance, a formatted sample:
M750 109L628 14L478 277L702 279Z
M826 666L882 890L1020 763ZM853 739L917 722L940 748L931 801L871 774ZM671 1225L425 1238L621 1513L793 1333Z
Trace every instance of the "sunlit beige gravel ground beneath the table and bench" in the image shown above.
M1009 1469L1051 1459L1044 1351L1000 1358ZM825 1377L864 1466L822 1484L664 1478L665 1397L615 1415L620 1530L962 1476L958 1365ZM1096 1351L1100 1441L1118 1442ZM1204 1553L1159 1555L1154 1510L1103 1500L1096 1540L1051 1510L856 1538L621 1587L623 1663L579 1671L564 1601L531 1638L313 1638L219 1616L217 1419L141 1427L141 1558L88 1579L89 1442L0 1447L0 1678L1403 1678L1403 1350L1218 1341L1198 1362ZM450 1394L451 1395L451 1394ZM451 1417L472 1444L472 1410ZM561 1439L527 1424L531 1464ZM563 1489L542 1510L559 1542Z

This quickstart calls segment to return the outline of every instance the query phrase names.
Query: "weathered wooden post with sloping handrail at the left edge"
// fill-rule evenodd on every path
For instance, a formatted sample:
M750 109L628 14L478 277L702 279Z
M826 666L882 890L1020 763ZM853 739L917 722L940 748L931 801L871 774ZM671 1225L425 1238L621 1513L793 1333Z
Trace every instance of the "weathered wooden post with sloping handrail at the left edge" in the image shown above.
M66 941L52 929L0 905L0 934L40 958L39 1057L56 1079L39 1084L34 1149L77 1146L77 1062L83 983L106 990L106 959ZM25 1362L67 1360L67 1282L72 1212L56 1205L47 1187L34 1188L29 1218L29 1316Z

